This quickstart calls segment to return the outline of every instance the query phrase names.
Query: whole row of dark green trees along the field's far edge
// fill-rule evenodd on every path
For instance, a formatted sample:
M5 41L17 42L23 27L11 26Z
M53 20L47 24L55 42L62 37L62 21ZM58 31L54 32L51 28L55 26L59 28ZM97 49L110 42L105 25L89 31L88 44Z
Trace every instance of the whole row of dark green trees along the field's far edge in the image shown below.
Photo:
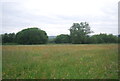
M54 39L48 39L47 33L37 27L23 29L18 33L2 34L2 44L46 44L46 43L71 43L71 44L98 44L120 43L120 35L100 33L90 36L90 26L87 22L73 23L69 29L70 35L60 34Z

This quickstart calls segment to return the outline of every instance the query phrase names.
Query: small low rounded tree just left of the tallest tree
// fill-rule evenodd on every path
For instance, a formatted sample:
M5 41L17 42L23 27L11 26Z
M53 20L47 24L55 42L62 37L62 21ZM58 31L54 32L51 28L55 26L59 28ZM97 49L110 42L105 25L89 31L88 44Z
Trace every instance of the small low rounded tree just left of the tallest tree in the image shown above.
M67 34L58 35L55 39L55 43L70 43L70 36Z

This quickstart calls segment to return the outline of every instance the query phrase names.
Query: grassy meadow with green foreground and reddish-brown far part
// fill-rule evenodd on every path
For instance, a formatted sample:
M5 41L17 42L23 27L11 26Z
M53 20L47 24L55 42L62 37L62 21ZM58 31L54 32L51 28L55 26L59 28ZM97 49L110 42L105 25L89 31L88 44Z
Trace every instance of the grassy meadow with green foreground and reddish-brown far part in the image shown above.
M117 79L117 44L7 45L3 79Z

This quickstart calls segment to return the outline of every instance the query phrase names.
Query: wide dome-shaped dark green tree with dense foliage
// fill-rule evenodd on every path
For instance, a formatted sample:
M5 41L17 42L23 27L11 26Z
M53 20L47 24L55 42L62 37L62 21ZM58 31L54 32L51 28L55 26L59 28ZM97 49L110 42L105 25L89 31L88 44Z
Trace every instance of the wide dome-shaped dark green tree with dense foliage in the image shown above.
M39 28L27 28L16 34L19 44L45 44L48 41L47 33Z

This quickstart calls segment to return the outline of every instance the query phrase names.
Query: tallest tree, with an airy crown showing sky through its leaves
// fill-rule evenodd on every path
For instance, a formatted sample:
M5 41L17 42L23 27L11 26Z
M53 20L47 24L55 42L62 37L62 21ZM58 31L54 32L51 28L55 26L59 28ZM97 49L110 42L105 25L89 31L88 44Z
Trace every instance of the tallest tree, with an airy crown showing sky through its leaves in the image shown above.
M73 23L69 30L71 42L74 44L86 43L88 34L92 33L87 22Z

